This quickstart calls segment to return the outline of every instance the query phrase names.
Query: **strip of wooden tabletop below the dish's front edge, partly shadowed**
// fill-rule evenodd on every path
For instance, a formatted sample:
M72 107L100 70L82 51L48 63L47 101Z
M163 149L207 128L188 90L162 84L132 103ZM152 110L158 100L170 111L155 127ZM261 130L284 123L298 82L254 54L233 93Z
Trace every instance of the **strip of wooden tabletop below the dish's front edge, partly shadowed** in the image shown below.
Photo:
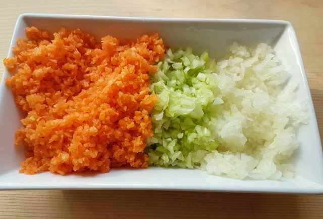
M322 218L321 196L170 191L5 191L2 218Z

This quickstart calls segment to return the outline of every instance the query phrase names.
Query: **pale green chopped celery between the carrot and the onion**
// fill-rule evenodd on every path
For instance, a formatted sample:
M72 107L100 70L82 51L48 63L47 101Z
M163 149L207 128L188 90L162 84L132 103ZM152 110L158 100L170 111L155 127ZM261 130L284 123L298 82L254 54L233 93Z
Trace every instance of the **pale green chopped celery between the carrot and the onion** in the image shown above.
M212 73L216 63L207 53L193 55L191 48L170 49L157 67L151 84L158 101L151 111L149 164L193 168L219 145L213 137L217 105L223 103Z

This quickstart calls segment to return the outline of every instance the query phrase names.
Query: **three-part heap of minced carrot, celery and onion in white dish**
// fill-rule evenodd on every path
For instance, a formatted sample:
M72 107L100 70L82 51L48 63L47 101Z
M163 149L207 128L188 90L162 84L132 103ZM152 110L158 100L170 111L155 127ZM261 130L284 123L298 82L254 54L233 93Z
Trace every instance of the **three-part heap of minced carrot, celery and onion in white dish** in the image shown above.
M306 103L295 101L297 84L265 43L235 42L215 61L191 48L166 51L158 34L123 45L79 29L26 33L4 60L26 112L16 134L27 148L20 172L149 164L236 179L293 176L287 163Z

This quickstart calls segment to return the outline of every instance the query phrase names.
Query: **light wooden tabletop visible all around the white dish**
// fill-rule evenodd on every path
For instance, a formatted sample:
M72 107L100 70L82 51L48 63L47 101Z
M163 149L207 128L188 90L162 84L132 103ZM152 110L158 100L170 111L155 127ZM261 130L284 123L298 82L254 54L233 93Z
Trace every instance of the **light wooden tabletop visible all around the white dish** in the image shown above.
M92 3L93 2L93 3ZM0 1L0 58L22 13L290 21L323 133L323 1ZM4 66L0 64L0 76ZM174 191L0 191L0 218L323 218L323 196Z

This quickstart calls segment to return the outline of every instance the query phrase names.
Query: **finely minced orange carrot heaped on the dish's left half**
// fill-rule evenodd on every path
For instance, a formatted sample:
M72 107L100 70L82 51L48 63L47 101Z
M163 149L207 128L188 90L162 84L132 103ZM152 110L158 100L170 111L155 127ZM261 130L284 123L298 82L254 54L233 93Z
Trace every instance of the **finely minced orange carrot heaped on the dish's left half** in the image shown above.
M4 60L16 70L6 82L27 112L16 133L16 144L28 151L20 172L146 168L149 111L157 99L149 94L149 73L165 54L158 34L121 45L112 36L97 44L79 29L26 33L15 58Z

